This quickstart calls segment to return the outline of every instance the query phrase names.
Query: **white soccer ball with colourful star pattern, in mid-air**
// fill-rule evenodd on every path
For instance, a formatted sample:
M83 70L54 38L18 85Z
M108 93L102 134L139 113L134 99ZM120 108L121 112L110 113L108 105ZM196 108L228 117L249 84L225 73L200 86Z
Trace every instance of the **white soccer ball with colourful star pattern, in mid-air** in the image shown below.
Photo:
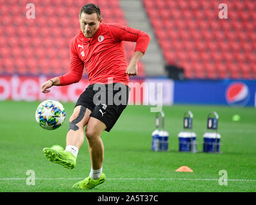
M44 129L60 127L64 123L65 116L64 106L55 100L41 102L35 111L35 119Z

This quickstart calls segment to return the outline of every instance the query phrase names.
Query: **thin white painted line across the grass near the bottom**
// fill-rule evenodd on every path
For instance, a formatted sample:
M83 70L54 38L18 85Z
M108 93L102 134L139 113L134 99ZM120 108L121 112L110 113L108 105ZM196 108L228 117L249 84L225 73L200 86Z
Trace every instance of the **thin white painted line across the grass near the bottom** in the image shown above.
M0 181L26 180L27 178L0 178ZM83 180L84 178L35 178L35 180ZM189 178L110 178L107 180L178 180L178 181L218 181L219 179L189 179ZM256 182L256 179L227 179L227 181Z

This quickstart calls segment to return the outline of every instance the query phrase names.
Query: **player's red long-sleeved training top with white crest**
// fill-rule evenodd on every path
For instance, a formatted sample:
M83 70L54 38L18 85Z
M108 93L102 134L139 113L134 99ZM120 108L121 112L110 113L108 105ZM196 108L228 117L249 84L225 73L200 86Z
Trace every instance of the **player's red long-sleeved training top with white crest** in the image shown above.
M92 38L80 31L71 40L70 70L60 76L60 85L80 81L83 68L87 70L90 84L124 83L128 85L127 63L123 41L136 42L135 51L145 53L149 35L139 29L121 24L101 23Z

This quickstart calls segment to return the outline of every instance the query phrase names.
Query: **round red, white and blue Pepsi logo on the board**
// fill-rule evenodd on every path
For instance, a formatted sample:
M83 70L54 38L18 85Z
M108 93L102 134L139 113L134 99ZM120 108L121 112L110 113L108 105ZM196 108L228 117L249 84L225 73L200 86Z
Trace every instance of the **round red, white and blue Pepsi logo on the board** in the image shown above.
M250 99L248 86L241 82L231 83L226 88L226 102L230 106L243 107L246 106Z

